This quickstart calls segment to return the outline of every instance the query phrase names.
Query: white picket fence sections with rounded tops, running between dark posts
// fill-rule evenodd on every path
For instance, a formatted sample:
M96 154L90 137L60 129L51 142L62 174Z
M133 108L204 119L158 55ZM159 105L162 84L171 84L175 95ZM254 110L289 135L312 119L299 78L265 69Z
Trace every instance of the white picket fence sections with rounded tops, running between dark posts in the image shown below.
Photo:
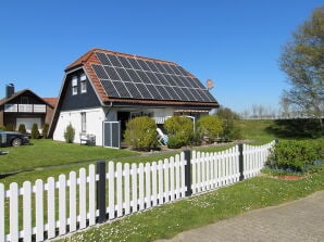
M271 142L265 145L244 145L244 176L260 173L269 155ZM146 164L114 164L109 162L105 174L107 217L114 219L185 198L184 152L164 161ZM223 152L203 153L192 151L192 193L216 189L237 182L239 173L238 145ZM59 180L48 178L45 183L36 180L33 186L10 184L9 190L0 183L0 242L43 241L97 224L96 166L88 171L71 171Z

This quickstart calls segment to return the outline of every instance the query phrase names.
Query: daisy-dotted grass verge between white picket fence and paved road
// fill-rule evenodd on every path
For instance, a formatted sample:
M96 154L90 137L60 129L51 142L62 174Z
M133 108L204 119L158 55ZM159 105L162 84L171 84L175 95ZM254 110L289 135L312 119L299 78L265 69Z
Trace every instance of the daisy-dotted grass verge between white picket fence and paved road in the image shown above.
M59 241L149 242L169 239L185 230L205 226L247 211L278 205L323 189L324 169L298 181L257 177L107 222Z

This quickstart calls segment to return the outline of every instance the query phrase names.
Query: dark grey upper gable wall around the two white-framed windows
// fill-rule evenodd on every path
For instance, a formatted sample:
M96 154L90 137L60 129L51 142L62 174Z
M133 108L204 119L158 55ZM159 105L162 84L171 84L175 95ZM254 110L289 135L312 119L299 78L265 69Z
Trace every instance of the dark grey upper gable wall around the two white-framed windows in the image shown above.
M89 109L89 107L98 107L101 106L98 97L89 82L87 77L86 85L87 85L87 92L83 93L80 90L80 76L83 71L77 71L72 74L66 75L66 89L63 94L63 101L61 111L71 111L71 110L80 110L80 109ZM77 77L77 94L72 93L72 78Z

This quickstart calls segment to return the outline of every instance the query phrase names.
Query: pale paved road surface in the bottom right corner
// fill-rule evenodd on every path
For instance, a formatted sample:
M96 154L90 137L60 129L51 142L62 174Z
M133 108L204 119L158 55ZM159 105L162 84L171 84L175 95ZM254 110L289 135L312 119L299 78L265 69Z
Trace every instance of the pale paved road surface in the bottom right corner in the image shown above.
M324 191L155 242L324 242Z

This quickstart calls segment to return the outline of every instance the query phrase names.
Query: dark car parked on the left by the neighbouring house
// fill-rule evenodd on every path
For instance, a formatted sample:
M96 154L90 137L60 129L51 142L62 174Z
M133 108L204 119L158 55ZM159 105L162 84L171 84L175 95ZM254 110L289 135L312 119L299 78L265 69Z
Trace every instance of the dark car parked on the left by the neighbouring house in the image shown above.
M20 147L29 143L29 139L25 133L0 130L0 147Z

